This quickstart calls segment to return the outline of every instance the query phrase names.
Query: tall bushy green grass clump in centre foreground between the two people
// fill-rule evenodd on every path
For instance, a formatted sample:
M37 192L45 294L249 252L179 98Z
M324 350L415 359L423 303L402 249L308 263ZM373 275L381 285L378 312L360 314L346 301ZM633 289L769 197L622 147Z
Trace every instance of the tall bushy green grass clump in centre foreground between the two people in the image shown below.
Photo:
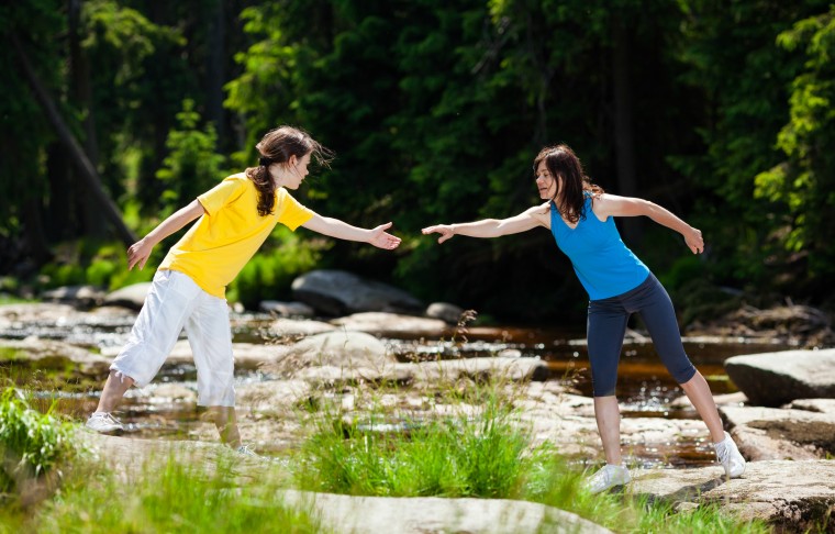
M300 482L367 496L516 497L527 435L514 425L508 404L494 393L485 397L471 418L461 411L396 424L407 433L375 431L387 422L382 412L347 426L325 419L302 446Z

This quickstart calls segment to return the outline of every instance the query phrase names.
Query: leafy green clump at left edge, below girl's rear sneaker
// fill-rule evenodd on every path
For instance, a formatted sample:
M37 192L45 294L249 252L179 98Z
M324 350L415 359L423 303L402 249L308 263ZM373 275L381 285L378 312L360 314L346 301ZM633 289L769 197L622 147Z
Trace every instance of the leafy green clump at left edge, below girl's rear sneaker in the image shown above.
M69 424L29 407L14 388L0 394L0 494L48 474L74 456Z

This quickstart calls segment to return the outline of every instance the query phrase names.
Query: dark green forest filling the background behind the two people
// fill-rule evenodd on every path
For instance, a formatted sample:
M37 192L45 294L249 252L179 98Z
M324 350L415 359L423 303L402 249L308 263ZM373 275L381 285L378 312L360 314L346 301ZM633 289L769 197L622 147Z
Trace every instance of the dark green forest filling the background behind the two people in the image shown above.
M608 192L702 230L619 221L683 322L835 308L835 4L798 0L26 0L0 5L0 292L149 280L125 248L292 124L336 153L294 196L393 254L277 229L230 287L255 308L338 268L515 323L581 324L545 230L421 229L538 202L567 143Z

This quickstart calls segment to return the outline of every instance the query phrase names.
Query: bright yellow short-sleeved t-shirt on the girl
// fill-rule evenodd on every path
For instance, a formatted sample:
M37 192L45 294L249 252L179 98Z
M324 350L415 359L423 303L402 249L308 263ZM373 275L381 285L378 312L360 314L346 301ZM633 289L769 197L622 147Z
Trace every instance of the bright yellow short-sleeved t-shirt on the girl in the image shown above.
M221 299L276 223L294 231L313 216L285 188L276 189L272 214L259 215L258 191L243 173L225 178L197 199L205 214L168 251L159 269L183 272Z

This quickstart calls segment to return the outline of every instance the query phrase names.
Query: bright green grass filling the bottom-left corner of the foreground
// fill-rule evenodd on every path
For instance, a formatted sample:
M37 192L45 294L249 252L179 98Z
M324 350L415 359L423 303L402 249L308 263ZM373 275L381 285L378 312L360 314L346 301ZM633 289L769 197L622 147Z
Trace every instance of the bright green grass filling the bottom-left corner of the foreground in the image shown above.
M278 469L247 480L231 450L214 461L137 457L144 476L127 479L70 444L71 425L19 391L0 397L0 533L329 532L276 497L286 486Z

